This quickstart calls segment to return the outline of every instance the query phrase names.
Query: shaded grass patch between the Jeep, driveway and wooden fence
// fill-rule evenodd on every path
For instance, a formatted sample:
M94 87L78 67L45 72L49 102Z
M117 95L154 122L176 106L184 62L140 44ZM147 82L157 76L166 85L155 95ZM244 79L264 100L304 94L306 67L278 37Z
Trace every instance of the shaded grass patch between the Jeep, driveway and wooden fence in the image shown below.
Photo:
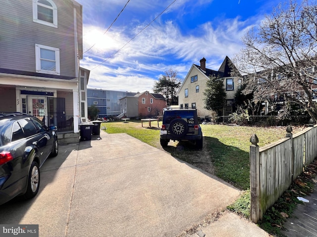
M190 141L170 141L163 150L239 189L250 188L249 153L237 147L225 145L213 137L204 137L202 150L197 150L195 143Z

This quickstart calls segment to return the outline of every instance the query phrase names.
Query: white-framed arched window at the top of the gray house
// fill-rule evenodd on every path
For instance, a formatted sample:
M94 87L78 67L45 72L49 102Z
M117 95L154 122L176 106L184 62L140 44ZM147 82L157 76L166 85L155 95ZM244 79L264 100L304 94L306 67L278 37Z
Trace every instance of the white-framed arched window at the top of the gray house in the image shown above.
M33 21L57 28L57 7L52 0L33 0Z

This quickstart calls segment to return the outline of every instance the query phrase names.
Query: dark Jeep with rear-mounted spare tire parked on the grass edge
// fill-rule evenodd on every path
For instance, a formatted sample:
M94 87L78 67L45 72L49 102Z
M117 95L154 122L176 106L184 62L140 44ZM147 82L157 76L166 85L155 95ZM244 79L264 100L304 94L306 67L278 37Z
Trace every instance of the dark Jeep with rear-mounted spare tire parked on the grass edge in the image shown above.
M203 148L203 133L196 109L165 108L159 134L162 147L166 147L170 140L188 140L194 141L197 149Z

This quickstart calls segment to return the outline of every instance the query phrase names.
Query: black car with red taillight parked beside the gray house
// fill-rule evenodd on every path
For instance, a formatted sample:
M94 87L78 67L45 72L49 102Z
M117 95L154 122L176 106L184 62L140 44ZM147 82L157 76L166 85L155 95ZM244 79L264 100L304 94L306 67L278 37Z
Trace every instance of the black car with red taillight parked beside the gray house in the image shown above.
M40 167L58 154L54 130L26 114L0 115L0 205L16 196L36 196Z

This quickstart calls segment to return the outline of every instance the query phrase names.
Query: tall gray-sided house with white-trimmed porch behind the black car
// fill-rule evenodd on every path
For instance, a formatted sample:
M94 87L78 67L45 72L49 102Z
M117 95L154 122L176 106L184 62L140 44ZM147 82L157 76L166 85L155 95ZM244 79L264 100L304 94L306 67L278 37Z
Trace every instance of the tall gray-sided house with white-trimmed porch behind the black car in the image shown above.
M89 70L82 5L75 0L1 1L0 113L23 112L77 133L87 119Z

